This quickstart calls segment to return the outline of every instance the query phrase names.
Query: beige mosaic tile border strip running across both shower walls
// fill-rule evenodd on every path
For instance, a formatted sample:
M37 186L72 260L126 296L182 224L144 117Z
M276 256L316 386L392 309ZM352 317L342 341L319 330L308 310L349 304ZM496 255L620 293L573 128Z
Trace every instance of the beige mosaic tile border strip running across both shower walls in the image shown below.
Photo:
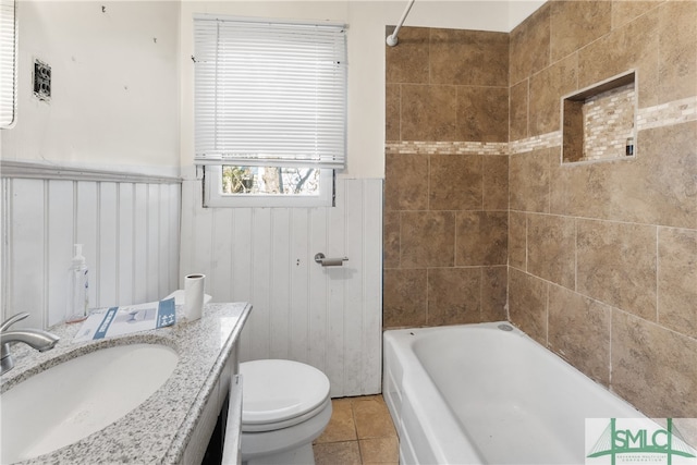
M637 131L671 126L697 120L697 96L674 100L655 107L640 108L637 112ZM394 142L388 140L388 155L514 155L562 145L562 132L554 131L511 143L479 142Z

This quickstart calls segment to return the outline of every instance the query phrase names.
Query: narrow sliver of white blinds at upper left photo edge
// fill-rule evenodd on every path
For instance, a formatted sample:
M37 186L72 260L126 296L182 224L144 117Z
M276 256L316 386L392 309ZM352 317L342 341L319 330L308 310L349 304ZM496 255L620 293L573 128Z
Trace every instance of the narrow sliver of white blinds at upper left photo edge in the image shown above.
M12 124L16 103L14 12L14 0L0 0L0 127Z

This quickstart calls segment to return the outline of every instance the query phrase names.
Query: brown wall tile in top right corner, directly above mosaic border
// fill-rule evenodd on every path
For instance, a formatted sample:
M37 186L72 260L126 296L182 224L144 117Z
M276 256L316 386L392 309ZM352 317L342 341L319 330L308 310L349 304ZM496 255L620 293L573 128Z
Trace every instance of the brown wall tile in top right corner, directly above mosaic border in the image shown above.
M659 8L659 103L697 95L697 2Z

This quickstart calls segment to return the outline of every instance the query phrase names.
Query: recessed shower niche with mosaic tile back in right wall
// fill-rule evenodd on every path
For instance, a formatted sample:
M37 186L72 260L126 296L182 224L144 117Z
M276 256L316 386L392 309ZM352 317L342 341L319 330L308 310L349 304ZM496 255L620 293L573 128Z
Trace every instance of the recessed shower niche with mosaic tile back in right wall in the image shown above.
M636 156L636 72L562 97L562 162Z

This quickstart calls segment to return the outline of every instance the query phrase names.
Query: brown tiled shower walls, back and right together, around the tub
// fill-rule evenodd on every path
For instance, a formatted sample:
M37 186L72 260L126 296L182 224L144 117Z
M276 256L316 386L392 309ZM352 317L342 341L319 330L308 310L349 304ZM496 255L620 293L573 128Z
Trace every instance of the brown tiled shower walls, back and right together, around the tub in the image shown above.
M562 166L561 97L631 69L637 157ZM590 378L697 417L697 2L403 28L387 76L384 327L505 318L508 291L508 318Z

